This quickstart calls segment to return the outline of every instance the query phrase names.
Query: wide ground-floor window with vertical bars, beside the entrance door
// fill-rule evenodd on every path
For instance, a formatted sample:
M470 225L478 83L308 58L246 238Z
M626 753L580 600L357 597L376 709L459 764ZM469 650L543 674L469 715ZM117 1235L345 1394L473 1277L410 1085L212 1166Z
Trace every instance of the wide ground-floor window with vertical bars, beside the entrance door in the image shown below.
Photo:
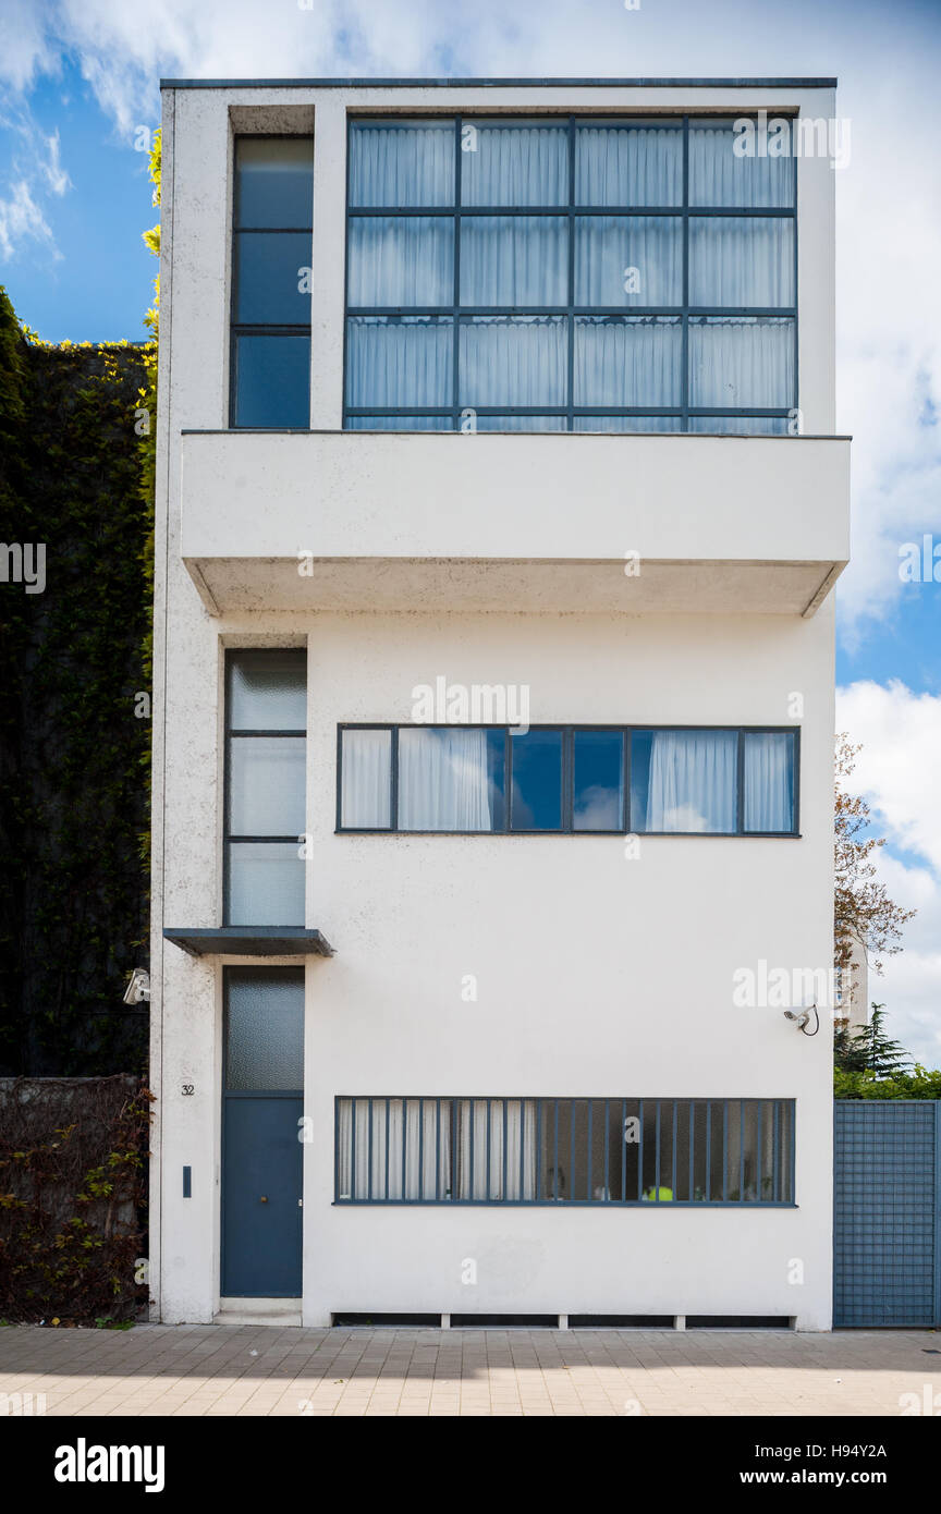
M793 1099L336 1099L337 1204L791 1205Z

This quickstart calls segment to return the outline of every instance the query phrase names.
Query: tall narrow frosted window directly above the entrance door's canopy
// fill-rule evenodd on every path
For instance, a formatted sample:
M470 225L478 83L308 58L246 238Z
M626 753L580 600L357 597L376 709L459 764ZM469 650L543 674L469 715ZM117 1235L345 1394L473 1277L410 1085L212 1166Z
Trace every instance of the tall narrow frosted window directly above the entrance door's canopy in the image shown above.
M303 925L304 651L233 651L225 699L225 924Z

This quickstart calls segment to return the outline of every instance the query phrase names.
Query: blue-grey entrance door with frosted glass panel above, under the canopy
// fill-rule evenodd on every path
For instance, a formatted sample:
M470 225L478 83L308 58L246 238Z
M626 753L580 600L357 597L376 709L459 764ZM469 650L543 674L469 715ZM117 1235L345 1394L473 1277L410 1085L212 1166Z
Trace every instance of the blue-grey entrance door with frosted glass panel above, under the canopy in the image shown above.
M301 1296L303 967L225 969L222 1297Z

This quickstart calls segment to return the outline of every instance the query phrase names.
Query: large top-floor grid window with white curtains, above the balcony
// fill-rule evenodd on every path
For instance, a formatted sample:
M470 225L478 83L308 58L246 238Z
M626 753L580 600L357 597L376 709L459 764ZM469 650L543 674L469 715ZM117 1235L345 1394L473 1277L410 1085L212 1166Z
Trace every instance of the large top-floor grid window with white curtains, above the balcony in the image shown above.
M351 430L782 435L796 159L731 121L354 120Z

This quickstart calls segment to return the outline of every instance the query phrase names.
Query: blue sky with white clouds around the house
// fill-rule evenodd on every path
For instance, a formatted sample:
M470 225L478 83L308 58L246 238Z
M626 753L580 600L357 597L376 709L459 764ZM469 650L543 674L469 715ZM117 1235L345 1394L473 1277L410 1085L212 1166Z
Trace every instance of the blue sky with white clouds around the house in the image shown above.
M5 0L0 282L50 341L142 339L156 212L139 127L157 80L295 76L838 76L838 430L853 444L853 563L837 589L838 718L917 907L874 996L941 1063L941 154L936 0ZM941 572L941 565L939 565Z

